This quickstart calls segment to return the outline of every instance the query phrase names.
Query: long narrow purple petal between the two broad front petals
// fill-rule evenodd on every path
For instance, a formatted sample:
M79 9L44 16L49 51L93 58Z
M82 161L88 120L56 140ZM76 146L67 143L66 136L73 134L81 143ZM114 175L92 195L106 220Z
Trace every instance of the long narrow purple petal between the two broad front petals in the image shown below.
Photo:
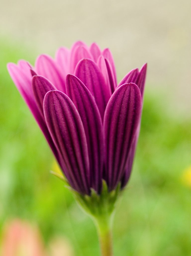
M67 95L80 114L85 130L90 159L90 186L99 192L102 184L104 154L101 116L92 94L77 77L67 75L66 89Z

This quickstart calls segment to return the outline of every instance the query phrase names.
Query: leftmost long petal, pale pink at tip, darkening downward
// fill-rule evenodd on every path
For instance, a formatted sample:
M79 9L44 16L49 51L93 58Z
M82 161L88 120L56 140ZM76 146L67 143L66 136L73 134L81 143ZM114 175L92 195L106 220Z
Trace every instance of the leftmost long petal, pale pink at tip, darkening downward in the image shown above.
M28 67L30 70L30 67ZM22 95L23 99L27 103L29 109L31 110L34 118L36 119L37 123L39 124L48 144L50 145L50 148L52 149L53 153L57 157L57 150L54 146L54 143L52 141L52 138L50 137L50 134L48 132L47 126L45 124L44 118L42 117L42 114L39 110L39 108L36 105L33 91L32 91L32 83L31 80L26 76L25 73L20 70L20 68L14 64L14 63L8 63L7 69L9 71L9 74L15 83L17 89L19 90L20 94ZM31 77L32 79L32 77ZM59 162L59 160L58 160Z

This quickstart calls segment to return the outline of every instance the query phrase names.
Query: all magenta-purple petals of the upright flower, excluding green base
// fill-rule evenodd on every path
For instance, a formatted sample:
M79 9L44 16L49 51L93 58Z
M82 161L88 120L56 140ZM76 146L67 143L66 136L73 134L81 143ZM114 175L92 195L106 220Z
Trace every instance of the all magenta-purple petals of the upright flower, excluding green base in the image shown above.
M117 84L109 49L81 41L61 47L55 59L40 55L32 67L8 63L71 187L99 194L129 180L140 130L146 64Z

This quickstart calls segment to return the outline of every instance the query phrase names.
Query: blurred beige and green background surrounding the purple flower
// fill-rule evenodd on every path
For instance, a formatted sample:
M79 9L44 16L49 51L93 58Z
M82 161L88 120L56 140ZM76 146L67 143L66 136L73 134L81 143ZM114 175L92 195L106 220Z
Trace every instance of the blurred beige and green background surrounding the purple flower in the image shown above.
M6 69L83 40L110 48L118 81L148 63L137 154L114 218L114 255L191 255L190 9L187 0L1 0L2 253L17 219L18 230L23 223L25 232L38 230L47 255L63 256L51 249L58 243L66 256L99 255L93 222L49 173L57 168L52 153Z

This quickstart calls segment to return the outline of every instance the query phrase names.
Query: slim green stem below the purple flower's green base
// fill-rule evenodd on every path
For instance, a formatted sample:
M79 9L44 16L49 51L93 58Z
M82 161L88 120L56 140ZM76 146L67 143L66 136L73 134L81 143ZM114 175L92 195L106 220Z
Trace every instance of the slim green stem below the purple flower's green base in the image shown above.
M113 256L111 223L111 216L96 220L101 256Z

